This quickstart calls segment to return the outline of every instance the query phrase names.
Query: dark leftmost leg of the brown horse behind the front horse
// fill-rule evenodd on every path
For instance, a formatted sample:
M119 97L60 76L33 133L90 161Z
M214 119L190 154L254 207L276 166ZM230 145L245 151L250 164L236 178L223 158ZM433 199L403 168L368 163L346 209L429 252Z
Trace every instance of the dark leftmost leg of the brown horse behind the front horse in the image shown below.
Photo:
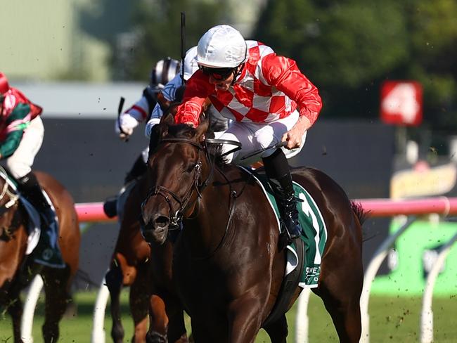
M124 328L120 318L120 292L122 288L122 270L119 265L111 264L110 270L105 275L106 286L110 291L110 311L112 318L111 337L113 342L122 343Z

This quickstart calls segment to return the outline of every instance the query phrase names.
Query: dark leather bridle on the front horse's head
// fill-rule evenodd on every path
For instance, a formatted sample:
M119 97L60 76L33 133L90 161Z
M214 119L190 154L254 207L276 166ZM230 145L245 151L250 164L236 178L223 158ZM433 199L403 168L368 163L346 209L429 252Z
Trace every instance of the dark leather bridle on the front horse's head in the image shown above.
M160 140L160 143L188 143L195 148L198 149L198 161L195 164L195 167L193 169L193 181L191 183L191 186L189 186L188 190L184 194L182 198L179 197L176 193L172 192L172 190L169 190L168 188L165 188L163 186L155 186L150 190L148 193L148 196L146 197L146 200L143 201L143 204L141 204L141 212L143 212L144 207L146 206L146 203L148 200L156 195L162 196L165 201L168 204L169 207L169 230L176 230L179 228L181 224L181 220L183 218L183 212L184 209L188 206L192 195L193 191L195 190L198 194L198 198L202 198L202 190L207 186L208 179L210 178L211 173L208 175L207 179L203 181L202 183L199 183L198 181L200 180L200 176L202 174L202 162L200 160L200 153L202 151L205 152L205 156L207 157L207 150L205 149L204 145L201 145L199 143L195 143L194 141L191 141L186 138L163 138ZM207 157L207 160L209 161L209 158ZM172 207L172 198L179 203L179 209L176 211L176 213L173 213L173 207ZM197 198L197 199L198 199Z

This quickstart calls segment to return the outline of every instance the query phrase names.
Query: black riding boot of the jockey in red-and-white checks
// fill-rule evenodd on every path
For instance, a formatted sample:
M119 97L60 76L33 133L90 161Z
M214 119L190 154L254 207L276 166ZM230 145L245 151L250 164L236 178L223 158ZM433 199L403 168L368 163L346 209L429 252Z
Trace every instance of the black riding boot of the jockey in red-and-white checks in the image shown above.
M290 167L281 149L269 157L262 159L269 185L278 202L281 219L289 238L294 239L302 234L302 226L298 221L297 200L292 186Z

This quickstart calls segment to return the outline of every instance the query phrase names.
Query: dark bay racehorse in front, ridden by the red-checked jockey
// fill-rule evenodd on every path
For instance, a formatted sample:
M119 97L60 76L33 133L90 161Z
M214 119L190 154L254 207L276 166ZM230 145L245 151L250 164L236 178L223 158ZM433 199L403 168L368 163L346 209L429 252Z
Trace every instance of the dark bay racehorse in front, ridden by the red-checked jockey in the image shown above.
M173 279L191 316L195 342L254 342L264 328L272 342L286 342L282 313L266 322L281 289L285 253L262 188L245 169L214 160L205 141L207 120L194 129L163 119L150 155L155 180L142 205L143 235L164 242L183 231L174 247ZM300 168L293 179L311 195L328 231L318 285L340 342L359 342L363 283L360 205L322 171ZM288 308L300 295L294 292Z

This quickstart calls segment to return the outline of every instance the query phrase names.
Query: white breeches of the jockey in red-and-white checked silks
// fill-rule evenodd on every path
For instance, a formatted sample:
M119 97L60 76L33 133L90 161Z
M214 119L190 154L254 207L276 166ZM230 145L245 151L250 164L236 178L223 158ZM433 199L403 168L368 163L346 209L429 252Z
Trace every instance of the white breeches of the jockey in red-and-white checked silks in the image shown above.
M292 112L288 117L279 119L271 123L253 123L253 122L233 122L231 126L222 134L220 139L228 139L237 141L242 144L241 150L226 156L228 162L236 162L237 164L249 165L259 161L262 157L267 157L274 152L274 149L266 150L259 155L252 156L245 160L240 160L241 157L262 148L267 148L281 142L283 135L292 129L299 117L298 111ZM302 145L296 149L282 148L285 157L290 158L298 153L303 148L304 142L307 138L307 132L304 132L302 138ZM233 145L224 145L223 152L233 149Z

